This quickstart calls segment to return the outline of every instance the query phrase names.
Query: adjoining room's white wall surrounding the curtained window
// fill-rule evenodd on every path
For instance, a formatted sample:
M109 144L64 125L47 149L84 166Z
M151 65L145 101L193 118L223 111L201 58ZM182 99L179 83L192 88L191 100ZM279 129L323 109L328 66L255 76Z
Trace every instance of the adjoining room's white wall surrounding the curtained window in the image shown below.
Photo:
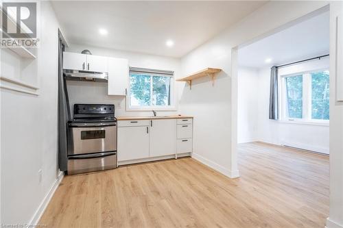
M289 75L316 69L329 68L329 58L280 68L279 75ZM302 123L285 123L269 119L270 68L259 69L258 137L257 140L329 153L329 126Z

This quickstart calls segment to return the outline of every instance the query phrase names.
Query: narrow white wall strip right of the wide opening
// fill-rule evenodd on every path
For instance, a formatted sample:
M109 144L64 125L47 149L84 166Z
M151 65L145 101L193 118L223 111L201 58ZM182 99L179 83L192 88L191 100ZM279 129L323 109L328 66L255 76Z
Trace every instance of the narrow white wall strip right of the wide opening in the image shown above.
M335 56L337 16L342 19L342 1L330 4L330 213L327 228L343 227L343 102L335 102L336 77L342 77L336 75L336 64L342 64Z

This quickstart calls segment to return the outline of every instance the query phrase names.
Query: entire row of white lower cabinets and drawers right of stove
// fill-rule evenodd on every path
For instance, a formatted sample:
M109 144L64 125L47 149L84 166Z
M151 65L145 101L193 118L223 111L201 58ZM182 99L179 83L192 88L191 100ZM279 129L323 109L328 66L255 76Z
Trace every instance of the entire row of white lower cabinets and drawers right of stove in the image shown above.
M193 119L118 121L118 162L132 164L193 152Z

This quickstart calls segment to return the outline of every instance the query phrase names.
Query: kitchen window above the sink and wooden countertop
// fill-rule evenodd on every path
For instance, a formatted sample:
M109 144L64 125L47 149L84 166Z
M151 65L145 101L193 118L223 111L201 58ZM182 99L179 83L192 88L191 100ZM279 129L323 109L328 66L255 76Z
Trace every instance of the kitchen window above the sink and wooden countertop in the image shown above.
M174 73L130 68L130 110L170 110L173 106Z

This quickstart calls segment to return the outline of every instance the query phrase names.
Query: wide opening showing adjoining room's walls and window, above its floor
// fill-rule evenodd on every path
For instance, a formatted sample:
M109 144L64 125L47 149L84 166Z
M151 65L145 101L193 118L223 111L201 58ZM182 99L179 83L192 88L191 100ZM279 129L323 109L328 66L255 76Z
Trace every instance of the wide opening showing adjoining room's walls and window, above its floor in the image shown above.
M329 11L238 49L237 142L329 155Z

